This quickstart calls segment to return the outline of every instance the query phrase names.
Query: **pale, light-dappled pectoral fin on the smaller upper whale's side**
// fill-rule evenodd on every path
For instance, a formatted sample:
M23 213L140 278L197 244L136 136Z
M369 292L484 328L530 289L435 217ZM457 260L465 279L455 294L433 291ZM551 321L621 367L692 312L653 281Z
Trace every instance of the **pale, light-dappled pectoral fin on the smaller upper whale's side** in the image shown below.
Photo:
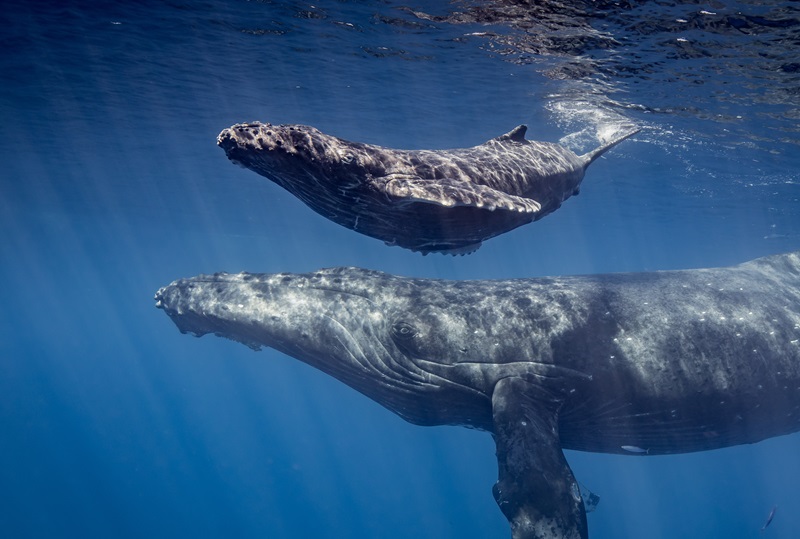
M426 180L417 176L390 174L373 180L399 203L423 202L445 207L471 206L485 210L537 213L542 205L530 198L509 195L486 185L463 180Z

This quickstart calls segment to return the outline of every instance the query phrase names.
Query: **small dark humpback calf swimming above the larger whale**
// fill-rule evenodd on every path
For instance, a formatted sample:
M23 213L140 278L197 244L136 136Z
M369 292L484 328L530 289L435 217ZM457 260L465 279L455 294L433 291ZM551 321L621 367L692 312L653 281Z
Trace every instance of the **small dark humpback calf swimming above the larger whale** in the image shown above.
M237 124L217 144L342 226L422 253L465 254L577 194L586 167L638 132L585 155L525 140L526 126L472 148L393 150L304 125Z

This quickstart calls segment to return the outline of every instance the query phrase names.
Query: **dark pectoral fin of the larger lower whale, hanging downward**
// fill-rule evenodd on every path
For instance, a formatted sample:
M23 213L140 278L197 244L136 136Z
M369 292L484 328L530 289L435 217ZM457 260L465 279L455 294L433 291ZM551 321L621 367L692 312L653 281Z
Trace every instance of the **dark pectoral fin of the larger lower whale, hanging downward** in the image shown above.
M561 451L559 402L521 378L492 394L498 480L494 497L513 539L587 539L580 488Z

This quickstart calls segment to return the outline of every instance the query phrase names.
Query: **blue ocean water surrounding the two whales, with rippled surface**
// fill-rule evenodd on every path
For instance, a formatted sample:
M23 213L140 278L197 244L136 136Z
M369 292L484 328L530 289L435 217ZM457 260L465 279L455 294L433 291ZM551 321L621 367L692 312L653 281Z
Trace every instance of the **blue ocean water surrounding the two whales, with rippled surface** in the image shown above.
M0 537L508 536L490 435L181 335L152 300L178 277L531 277L800 248L796 6L597 3L579 21L577 3L476 5L4 2ZM250 120L401 148L520 123L576 150L608 123L643 130L553 215L422 257L232 166L215 137ZM793 538L798 454L791 435L567 458L601 497L593 538Z

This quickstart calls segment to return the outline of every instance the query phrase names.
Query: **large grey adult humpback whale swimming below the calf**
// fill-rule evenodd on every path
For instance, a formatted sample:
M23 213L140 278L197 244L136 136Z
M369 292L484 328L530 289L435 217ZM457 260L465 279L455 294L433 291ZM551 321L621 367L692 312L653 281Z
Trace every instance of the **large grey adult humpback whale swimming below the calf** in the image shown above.
M156 306L182 332L275 348L412 423L490 431L515 539L588 537L562 448L657 455L800 430L800 251L499 281L218 273L173 282Z

